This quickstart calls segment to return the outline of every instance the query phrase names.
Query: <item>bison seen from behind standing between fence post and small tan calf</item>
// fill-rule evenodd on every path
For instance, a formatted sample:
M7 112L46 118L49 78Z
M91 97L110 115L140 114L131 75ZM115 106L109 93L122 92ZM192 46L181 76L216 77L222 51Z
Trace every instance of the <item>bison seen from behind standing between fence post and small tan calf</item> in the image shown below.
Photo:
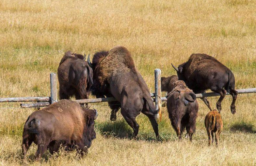
M196 95L184 81L176 81L172 87L173 89L167 94L167 110L171 125L179 139L186 128L189 139L192 141L198 114Z

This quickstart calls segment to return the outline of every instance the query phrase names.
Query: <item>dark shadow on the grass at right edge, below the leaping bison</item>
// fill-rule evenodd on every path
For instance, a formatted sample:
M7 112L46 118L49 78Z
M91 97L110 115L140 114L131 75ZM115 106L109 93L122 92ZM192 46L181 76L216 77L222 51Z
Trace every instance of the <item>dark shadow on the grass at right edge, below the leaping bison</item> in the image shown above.
M256 133L255 126L252 123L248 122L236 122L231 125L230 131L236 132L236 131L241 131L241 132L247 132L247 133Z

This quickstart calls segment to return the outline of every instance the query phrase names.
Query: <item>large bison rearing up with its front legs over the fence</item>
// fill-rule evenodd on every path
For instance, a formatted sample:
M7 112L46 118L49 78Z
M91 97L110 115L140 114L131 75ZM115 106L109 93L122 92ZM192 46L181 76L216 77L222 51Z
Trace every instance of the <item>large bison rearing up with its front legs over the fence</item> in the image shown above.
M132 127L134 137L139 131L135 118L140 112L150 119L158 137L158 124L154 118L158 110L130 52L125 47L116 46L109 51L95 53L92 63L88 57L88 64L93 68L92 94L116 98L118 102L111 108L121 108L121 114Z

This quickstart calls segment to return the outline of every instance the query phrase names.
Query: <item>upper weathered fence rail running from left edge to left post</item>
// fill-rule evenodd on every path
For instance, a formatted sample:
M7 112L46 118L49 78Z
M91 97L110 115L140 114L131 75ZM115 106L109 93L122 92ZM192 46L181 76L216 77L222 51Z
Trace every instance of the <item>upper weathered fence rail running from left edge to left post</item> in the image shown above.
M50 97L13 97L0 98L0 102L49 102Z

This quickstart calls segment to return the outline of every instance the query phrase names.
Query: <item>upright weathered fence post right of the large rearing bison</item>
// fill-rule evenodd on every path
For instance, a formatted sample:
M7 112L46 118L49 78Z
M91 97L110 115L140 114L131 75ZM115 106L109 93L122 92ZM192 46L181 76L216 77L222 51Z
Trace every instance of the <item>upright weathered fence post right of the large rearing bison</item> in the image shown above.
M155 69L155 107L159 109L155 118L162 120L162 101L161 101L161 70Z

